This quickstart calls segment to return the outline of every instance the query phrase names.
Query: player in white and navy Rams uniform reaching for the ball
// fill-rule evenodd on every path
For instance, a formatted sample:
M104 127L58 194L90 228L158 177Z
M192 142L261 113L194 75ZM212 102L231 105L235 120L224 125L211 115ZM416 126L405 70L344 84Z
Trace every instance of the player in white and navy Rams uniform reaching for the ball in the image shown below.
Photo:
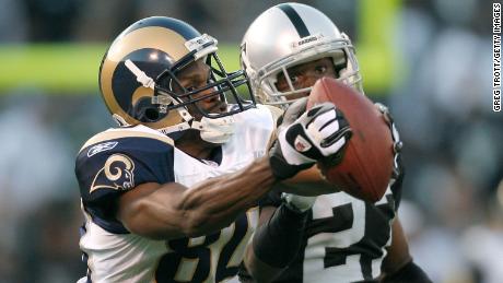
M87 264L79 282L233 278L259 199L300 172L319 177L315 162L343 151L351 130L332 104L288 111L276 130L270 107L237 91L249 87L246 74L226 72L217 50L189 24L153 16L105 54L101 93L120 127L77 157Z

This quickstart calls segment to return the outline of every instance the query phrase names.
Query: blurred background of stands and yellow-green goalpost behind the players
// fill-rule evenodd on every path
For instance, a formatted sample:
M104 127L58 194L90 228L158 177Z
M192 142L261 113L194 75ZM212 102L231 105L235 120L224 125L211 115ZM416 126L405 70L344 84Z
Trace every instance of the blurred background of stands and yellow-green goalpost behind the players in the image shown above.
M0 283L74 282L74 156L113 125L97 87L107 45L150 15L187 21L238 66L248 24L281 1L0 0ZM486 0L312 0L356 46L366 94L405 142L399 210L434 282L503 282L503 116L492 111Z

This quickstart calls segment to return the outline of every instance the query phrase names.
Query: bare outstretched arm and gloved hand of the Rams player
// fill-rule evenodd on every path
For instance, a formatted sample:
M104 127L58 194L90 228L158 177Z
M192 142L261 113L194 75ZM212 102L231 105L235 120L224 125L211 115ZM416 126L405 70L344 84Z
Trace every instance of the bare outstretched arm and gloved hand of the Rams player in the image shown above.
M290 116L296 117L299 113ZM221 229L253 207L276 181L291 178L317 160L342 151L349 126L339 123L347 121L336 117L334 105L315 106L282 125L267 157L191 188L176 182L140 185L120 197L117 219L132 233L157 239Z

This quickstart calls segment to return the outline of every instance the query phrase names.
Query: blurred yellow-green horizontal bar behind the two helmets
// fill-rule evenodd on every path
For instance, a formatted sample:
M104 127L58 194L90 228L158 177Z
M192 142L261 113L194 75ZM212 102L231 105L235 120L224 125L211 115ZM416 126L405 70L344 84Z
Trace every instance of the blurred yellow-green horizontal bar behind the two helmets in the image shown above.
M361 49L359 58L366 91L386 91L393 71L384 68L386 58L379 50ZM48 94L94 93L105 50L105 44L1 45L0 94L32 89ZM237 44L221 44L219 56L227 70L239 67Z

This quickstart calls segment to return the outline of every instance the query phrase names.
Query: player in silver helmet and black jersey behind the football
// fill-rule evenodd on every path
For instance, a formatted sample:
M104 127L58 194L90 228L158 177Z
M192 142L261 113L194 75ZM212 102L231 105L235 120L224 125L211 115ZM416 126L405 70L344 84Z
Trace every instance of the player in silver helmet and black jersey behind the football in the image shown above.
M282 3L261 13L243 38L241 59L255 94L265 104L286 108L308 95L323 76L336 78L363 95L350 39L324 13L305 4ZM390 118L384 106L379 109ZM296 245L271 236L282 224L277 221L274 203L265 204L260 221L266 224L247 251L255 257L245 262L255 281L276 276L274 282L430 282L413 263L396 215L403 175L393 119L389 126L397 148L396 170L384 198L370 203L344 192L317 199L288 194L307 217ZM296 255L285 252L286 245L296 248ZM268 252L271 249L277 255ZM248 280L245 272L242 281Z

